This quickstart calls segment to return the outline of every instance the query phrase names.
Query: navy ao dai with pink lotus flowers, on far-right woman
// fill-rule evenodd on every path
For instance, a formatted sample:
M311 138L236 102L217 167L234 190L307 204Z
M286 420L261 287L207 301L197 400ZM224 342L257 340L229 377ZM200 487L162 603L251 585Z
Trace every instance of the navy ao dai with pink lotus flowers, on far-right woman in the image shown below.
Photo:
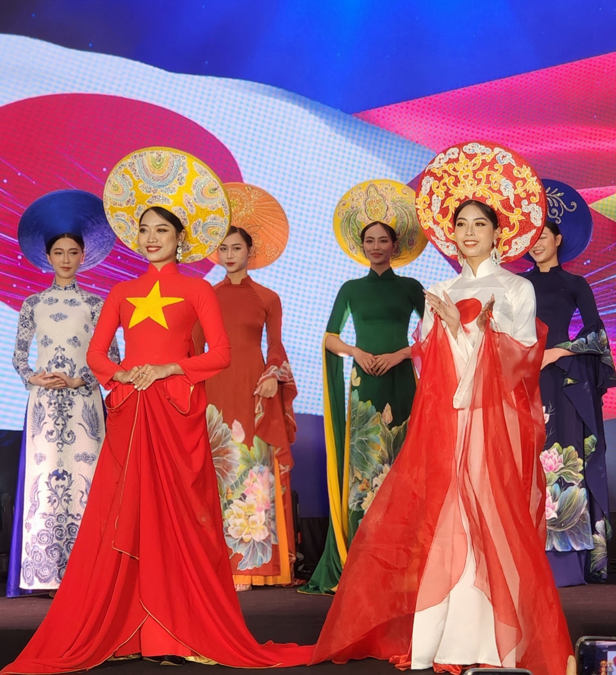
M584 277L559 265L524 273L534 286L546 348L563 356L541 371L546 422L541 462L547 477L547 551L557 586L607 580L609 500L601 398L616 386L612 355L594 296ZM573 340L576 310L582 327Z

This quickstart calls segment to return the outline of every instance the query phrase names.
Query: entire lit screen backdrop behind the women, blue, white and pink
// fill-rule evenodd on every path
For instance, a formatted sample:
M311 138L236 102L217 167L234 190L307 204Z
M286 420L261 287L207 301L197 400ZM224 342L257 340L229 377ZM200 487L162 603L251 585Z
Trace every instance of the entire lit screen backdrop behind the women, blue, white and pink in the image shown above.
M101 19L96 16L102 7L98 2L58 2L53 16L45 3L21 3L20 11L0 19L2 30L19 33L0 35L0 429L21 429L26 406L26 391L11 366L18 309L26 296L51 283L49 275L20 254L20 215L50 190L74 187L101 194L117 159L153 144L184 148L223 180L262 186L283 205L291 225L289 246L275 265L253 276L283 302L283 338L300 391L297 412L322 412L321 340L329 310L343 281L366 272L335 243L331 215L338 198L369 178L414 186L428 159L451 142L497 140L528 157L540 175L569 182L582 192L592 209L594 237L584 259L569 269L588 278L609 334L616 337L616 53L601 55L616 49L616 31L609 32L614 17L607 11L600 16L586 3L586 18L576 21L561 3L547 49L537 23L547 17L534 14L534 23L523 24L517 13L526 3L495 3L502 10L499 30L508 45L504 57L462 58L459 46L446 41L430 75L429 59L416 59L412 45L401 36L368 59L357 36L348 34L344 43L339 33L330 34L336 22L341 26L354 18L359 30L372 17L372 38L385 36L384 17L391 28L405 3L382 3L376 14L364 3L339 3L344 11L327 16L318 3L312 12L304 3L292 4L297 10L293 30L285 32L291 25L285 8L291 3L263 3L269 14L263 10L248 36L251 10L246 3L229 3L229 16L244 11L237 34L225 42L215 32L210 42L220 49L210 44L202 53L196 43L185 50L169 48L173 41L167 40L168 33L166 41L152 42L156 10L148 18L152 24L140 25L136 35L126 33L126 26L101 32L101 21L103 27L111 26L113 9ZM32 5L33 11L26 14L24 5ZM123 6L130 9L137 3ZM68 14L70 7L76 7L74 14ZM466 30L470 16L477 15L468 10L461 16L456 7L451 5L449 30ZM191 11L197 9L195 5ZM426 26L430 11L418 10ZM496 21L491 11L476 18L474 29ZM298 32L302 12L307 12L304 32ZM222 14L212 15L215 30ZM180 19L188 22L186 16L173 15L170 26ZM320 33L314 32L318 22ZM201 28L206 23L196 20ZM576 23L589 39L557 39L555 27L562 36ZM439 33L430 26L431 35ZM225 24L225 30L231 28ZM276 31L287 43L268 39ZM315 35L318 39L310 43ZM425 34L418 33L417 49L422 40ZM594 51L585 47L591 43ZM237 47L235 52L230 45ZM281 45L296 57L303 45L313 61L297 57L284 63ZM468 49L476 57L480 48L472 43ZM513 58L515 49L520 58ZM242 79L204 76L210 72ZM509 77L496 79L503 76ZM84 286L105 295L116 281L144 267L138 255L118 243L105 263L80 278ZM222 278L221 270L209 263L185 271L212 283ZM453 269L428 246L400 273L429 286L451 276ZM352 327L345 335L353 339ZM612 398L605 413L616 416Z

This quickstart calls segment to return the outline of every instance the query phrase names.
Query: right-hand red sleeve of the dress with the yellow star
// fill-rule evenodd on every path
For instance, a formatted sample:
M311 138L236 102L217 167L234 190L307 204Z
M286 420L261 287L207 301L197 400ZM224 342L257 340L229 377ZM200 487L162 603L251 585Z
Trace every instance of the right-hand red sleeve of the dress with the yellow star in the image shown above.
M218 298L214 289L206 281L200 285L199 292L194 298L194 308L203 329L208 350L203 354L183 358L178 362L192 385L208 377L214 377L231 363L231 345L223 324Z

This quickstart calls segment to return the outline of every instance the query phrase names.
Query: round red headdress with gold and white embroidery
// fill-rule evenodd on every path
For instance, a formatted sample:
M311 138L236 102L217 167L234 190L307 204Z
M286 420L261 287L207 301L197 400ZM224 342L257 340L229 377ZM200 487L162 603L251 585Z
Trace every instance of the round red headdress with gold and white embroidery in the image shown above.
M453 213L469 200L492 207L499 220L497 259L510 263L538 240L547 202L541 181L517 153L488 142L453 145L422 171L415 197L419 223L445 255L456 258Z

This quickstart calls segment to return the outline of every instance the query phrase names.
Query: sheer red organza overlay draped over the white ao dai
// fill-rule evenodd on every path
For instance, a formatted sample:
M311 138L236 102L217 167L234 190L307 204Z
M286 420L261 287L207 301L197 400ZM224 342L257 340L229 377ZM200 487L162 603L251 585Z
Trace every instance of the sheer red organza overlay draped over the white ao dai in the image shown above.
M537 333L526 347L486 329L459 438L441 321L414 345L420 383L408 435L354 539L313 662L375 657L410 668L415 612L445 599L464 570L461 502L501 660L515 650L534 675L565 672L573 649L544 553L540 322Z

